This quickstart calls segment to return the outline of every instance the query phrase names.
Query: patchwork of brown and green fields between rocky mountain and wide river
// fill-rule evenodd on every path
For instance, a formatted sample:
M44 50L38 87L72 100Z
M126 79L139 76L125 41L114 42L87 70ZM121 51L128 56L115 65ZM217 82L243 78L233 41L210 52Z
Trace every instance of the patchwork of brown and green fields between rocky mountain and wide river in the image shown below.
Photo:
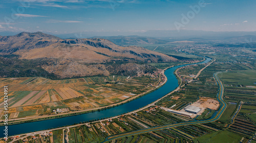
M93 109L127 100L153 89L159 73L151 76L86 77L50 80L42 77L1 78L8 85L11 119L52 115L53 109ZM0 97L3 111L4 96ZM33 108L35 105L37 108ZM0 113L1 114L1 113ZM3 117L2 117L3 118Z

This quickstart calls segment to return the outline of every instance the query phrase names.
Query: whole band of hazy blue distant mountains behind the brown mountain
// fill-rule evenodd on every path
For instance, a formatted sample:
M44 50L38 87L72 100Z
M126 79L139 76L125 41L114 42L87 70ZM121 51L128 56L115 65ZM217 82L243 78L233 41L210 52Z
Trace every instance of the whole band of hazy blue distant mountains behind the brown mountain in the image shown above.
M15 32L0 32L0 35L16 35ZM256 32L211 32L193 30L151 30L146 32L78 32L70 34L53 34L61 39L102 38L117 45L165 44L176 41L193 42L256 42ZM122 35L122 36L120 36Z

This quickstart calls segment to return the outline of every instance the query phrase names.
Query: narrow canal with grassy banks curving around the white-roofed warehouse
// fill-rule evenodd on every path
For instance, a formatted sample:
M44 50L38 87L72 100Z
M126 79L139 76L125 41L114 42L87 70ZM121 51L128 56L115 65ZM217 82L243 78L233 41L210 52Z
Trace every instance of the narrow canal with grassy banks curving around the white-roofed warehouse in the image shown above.
M192 124L203 124L203 123L209 123L209 122L217 121L218 119L220 119L221 115L223 114L223 112L225 111L225 109L227 107L227 103L224 102L224 100L223 100L223 93L224 93L223 84L217 76L219 73L221 73L221 72L215 73L214 78L215 78L215 80L217 81L217 83L219 85L219 90L220 91L219 91L217 96L218 96L218 100L221 103L221 106L220 106L220 109L219 109L218 113L216 114L216 116L214 118L204 120L204 121L189 121L189 122L181 122L181 123L177 123L177 124L169 124L169 125L164 125L164 126L142 129L142 130L139 130L139 131L133 131L133 132L129 132L129 133L113 135L113 136L107 137L103 142L107 142L107 141L110 141L110 140L113 140L113 139L122 138L122 137L126 137L126 136L137 135L137 134L141 134L141 133L147 133L147 132L151 132L151 131L157 131L157 130L172 128L172 127L192 125Z

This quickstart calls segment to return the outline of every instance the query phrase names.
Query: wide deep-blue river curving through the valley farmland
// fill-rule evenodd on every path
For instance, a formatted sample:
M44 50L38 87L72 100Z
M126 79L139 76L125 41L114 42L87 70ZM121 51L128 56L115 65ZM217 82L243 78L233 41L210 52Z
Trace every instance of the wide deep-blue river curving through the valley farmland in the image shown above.
M208 63L211 59L206 58L205 61L197 64L204 64ZM23 134L23 133L29 133L39 130L47 130L50 128L57 128L62 127L66 125L73 125L74 123L79 123L83 121L89 121L89 120L97 120L101 118L109 118L121 115L122 113L130 112L136 109L139 109L143 106L146 106L147 104L150 104L157 99L163 97L164 95L168 94L169 92L172 92L178 87L178 80L176 76L174 75L174 71L177 68L187 66L187 65L194 65L194 64L186 64L186 65L179 65L172 68L167 69L164 74L167 77L166 83L159 88L158 90L149 93L143 97L140 97L138 99L135 99L133 101L124 103L122 105L101 110L101 111L95 111L90 113L84 113L82 115L77 116L70 116L65 118L58 118L58 119L51 119L51 120L44 120L44 121L37 121L37 122L30 122L30 123L23 123L23 124L16 124L16 125L9 125L8 126L8 135L16 135L16 134ZM0 127L0 137L4 137L4 130L5 126ZM3 132L3 133L1 133Z

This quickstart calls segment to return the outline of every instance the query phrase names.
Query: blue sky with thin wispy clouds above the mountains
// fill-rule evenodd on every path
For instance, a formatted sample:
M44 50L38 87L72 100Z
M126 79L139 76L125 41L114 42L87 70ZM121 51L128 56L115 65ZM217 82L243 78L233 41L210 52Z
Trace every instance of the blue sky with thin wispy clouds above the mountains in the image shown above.
M0 1L0 32L55 34L75 32L143 32L180 29L256 31L255 0L9 0ZM186 23L182 14L193 12ZM201 4L200 3L200 4ZM190 13L191 14L191 13Z

